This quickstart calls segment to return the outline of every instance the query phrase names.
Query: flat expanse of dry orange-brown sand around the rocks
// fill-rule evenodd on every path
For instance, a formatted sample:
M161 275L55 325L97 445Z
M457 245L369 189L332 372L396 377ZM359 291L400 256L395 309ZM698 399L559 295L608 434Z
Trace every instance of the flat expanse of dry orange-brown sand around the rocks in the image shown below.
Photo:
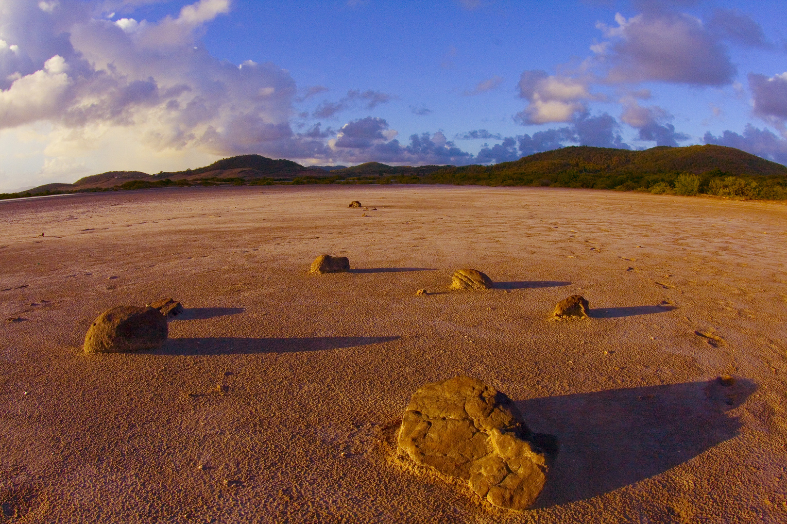
M784 206L157 189L3 202L0 231L8 522L787 522ZM322 253L356 269L310 275ZM499 287L447 292L461 267ZM549 320L573 294L592 318ZM82 353L169 296L161 350ZM391 460L410 395L460 372L558 438L533 510Z

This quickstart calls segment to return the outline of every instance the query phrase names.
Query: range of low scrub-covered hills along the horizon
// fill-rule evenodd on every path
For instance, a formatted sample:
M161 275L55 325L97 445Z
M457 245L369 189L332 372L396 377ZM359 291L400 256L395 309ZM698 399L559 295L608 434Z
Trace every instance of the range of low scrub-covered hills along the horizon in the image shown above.
M779 195L787 191L787 167L721 145L661 146L645 151L571 146L513 162L461 167L389 166L379 162L353 167L304 167L285 159L242 155L197 169L155 175L109 171L80 178L73 184L41 185L0 198L193 184L552 185L648 191L654 188L653 191L670 192L682 174L696 176L700 192L722 196L781 198ZM736 177L741 181L731 179Z

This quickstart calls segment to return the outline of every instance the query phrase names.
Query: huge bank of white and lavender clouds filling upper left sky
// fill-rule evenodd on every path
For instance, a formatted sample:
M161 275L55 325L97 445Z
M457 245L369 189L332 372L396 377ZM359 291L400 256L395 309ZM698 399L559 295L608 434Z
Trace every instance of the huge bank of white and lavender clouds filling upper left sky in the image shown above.
M2 0L0 128L48 123L45 154L64 165L96 157L98 145L120 152L129 141L181 156L190 149L209 156L331 154L325 131L290 128L297 99L287 71L250 60L235 66L201 46L204 24L229 5L200 0L158 22L113 22L92 16L101 9L95 2L61 0L42 9ZM373 91L354 96L368 107L388 99Z

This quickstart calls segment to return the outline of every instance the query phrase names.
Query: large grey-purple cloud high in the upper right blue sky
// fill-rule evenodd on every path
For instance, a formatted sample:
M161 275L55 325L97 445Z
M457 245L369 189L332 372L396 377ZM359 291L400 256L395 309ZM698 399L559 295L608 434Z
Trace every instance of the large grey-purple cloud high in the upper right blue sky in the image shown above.
M593 48L600 63L611 65L608 82L732 83L736 68L726 47L693 16L662 11L626 19L618 13L615 22L618 27L597 24L610 40Z

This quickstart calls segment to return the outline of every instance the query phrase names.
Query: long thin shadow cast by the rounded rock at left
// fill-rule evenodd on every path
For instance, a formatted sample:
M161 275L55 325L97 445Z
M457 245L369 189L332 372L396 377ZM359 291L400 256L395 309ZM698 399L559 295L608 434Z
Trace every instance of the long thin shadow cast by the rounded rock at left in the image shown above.
M203 339L169 339L157 355L237 355L257 353L294 353L297 351L338 350L390 342L398 336L314 336L291 339L243 339L207 337Z

